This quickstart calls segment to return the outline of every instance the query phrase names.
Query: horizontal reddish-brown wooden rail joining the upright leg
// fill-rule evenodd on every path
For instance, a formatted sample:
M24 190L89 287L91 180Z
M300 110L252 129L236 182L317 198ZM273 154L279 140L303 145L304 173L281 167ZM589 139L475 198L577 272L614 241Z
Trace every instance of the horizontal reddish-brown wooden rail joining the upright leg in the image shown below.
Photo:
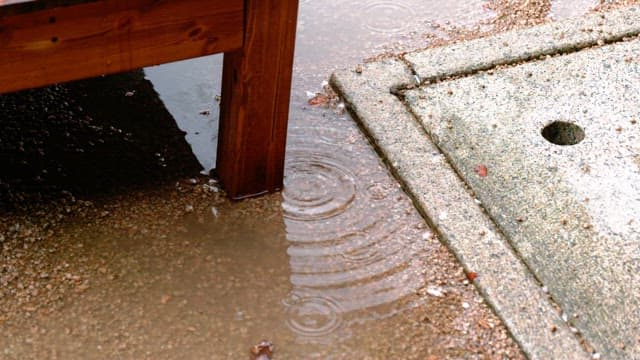
M0 93L242 47L244 0L75 2L0 17Z

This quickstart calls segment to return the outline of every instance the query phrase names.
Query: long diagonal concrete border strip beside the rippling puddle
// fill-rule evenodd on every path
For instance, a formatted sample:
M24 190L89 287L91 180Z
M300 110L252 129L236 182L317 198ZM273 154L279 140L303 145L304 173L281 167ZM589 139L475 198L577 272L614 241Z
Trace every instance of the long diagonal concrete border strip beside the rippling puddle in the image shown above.
M342 96L396 179L531 359L589 359L529 269L519 259L424 129L391 90L415 86L399 60L340 71L331 85Z

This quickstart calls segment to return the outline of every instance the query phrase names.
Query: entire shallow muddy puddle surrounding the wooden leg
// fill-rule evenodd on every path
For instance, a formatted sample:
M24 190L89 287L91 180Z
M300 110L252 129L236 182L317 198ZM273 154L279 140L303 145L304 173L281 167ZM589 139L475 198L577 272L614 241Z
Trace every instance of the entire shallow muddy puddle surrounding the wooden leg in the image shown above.
M242 359L262 339L277 359L521 358L349 116L307 105L333 69L488 26L484 5L301 0L284 191L231 203L198 178L87 205L26 256L48 273L27 268L0 358ZM220 67L145 70L204 172Z

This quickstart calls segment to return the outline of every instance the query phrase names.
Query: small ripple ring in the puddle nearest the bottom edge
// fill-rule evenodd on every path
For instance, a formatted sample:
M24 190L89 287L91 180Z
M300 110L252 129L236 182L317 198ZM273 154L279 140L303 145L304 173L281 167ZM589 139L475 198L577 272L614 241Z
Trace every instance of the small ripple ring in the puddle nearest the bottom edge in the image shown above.
M342 309L331 298L294 295L285 306L287 326L308 340L327 336L342 325Z

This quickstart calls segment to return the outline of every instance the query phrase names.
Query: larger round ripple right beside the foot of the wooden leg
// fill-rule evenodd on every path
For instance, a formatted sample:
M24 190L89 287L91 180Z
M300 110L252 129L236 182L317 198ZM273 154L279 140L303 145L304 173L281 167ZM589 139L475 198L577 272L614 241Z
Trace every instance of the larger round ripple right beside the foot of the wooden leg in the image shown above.
M296 156L285 178L283 210L297 220L319 220L344 212L356 196L354 175L329 154Z

